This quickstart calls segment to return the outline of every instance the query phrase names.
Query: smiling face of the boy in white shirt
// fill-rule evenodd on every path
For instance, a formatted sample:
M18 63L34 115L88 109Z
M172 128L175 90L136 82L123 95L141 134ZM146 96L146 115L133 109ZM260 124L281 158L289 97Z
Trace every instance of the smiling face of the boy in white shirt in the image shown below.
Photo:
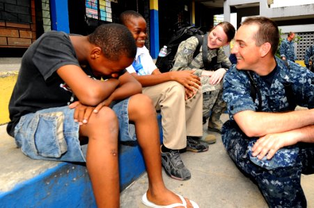
M132 33L136 46L142 48L145 45L147 38L146 21L142 17L132 17L125 24L129 31Z

